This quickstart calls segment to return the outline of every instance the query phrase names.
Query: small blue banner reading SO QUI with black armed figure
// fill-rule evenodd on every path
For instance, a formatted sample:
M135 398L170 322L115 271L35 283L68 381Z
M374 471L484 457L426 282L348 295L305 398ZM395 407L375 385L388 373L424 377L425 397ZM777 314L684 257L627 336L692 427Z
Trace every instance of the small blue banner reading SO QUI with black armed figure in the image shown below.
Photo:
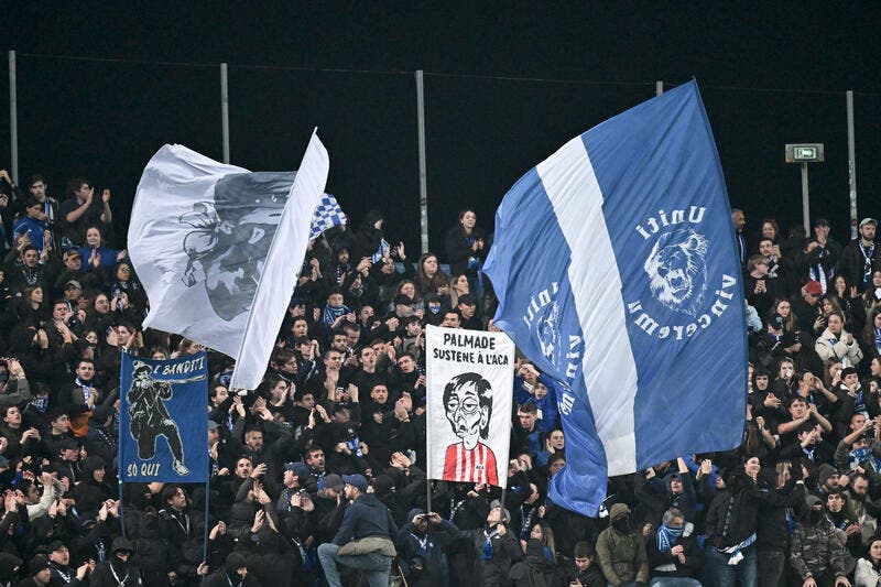
M124 482L208 480L208 359L122 354L119 470Z

